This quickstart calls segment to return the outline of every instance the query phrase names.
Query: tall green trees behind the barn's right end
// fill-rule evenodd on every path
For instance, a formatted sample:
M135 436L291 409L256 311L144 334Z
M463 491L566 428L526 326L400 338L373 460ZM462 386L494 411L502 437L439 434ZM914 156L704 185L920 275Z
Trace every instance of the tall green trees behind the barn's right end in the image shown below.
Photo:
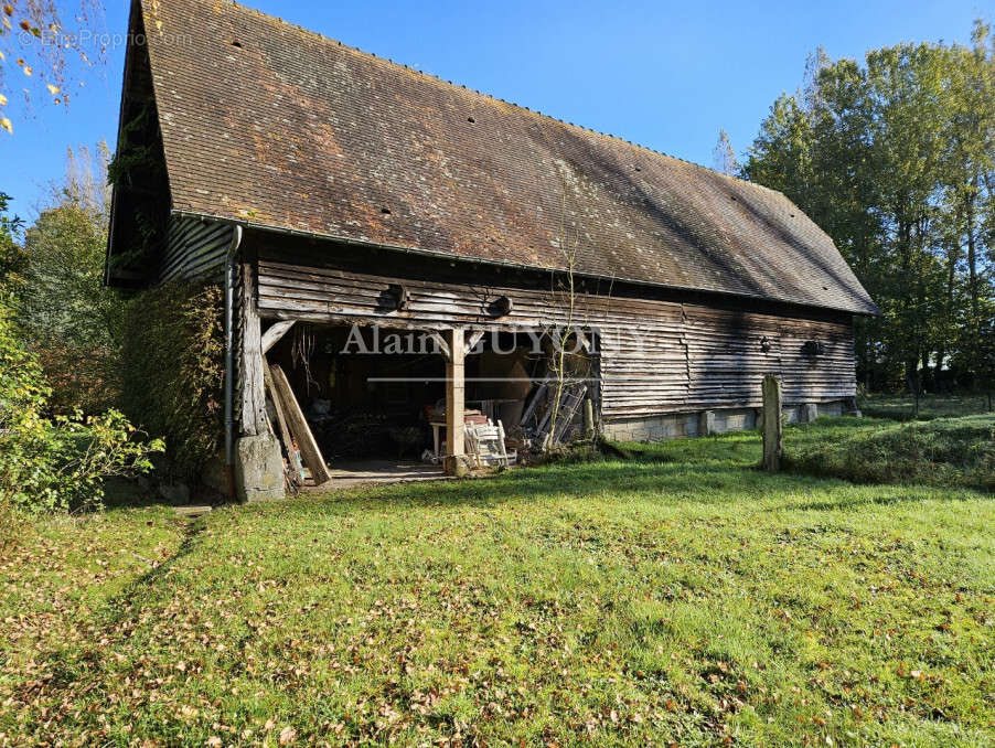
M868 385L918 394L982 373L993 290L993 41L900 44L863 64L820 51L761 124L742 175L781 190L878 301L857 320ZM974 353L971 353L974 351Z

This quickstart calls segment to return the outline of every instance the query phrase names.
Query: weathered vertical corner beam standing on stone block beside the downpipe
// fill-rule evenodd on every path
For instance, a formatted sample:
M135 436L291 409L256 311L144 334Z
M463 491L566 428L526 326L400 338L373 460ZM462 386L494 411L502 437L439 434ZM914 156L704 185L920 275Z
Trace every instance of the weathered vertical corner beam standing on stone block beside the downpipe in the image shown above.
M253 266L243 263L238 278L238 424L242 436L268 434L263 384L263 345Z

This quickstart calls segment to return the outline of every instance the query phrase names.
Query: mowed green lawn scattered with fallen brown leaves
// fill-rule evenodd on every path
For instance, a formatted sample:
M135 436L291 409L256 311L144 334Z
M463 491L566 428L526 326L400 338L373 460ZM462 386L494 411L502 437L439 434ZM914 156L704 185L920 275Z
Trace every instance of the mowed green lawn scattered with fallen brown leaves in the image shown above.
M631 448L36 521L0 566L0 741L995 741L992 494L767 475L756 434Z

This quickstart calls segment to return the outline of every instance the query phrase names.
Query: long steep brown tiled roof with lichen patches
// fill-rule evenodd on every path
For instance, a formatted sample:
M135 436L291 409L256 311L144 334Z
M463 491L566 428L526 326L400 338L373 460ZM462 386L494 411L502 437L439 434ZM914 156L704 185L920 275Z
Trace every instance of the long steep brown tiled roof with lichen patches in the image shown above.
M784 195L225 0L142 0L178 212L854 312ZM561 246L564 245L564 246Z

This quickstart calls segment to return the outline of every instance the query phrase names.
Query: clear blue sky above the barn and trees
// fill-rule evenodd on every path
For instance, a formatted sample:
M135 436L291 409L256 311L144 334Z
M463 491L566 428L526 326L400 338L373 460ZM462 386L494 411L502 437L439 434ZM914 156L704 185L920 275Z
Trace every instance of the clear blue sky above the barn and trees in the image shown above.
M169 2L169 0L162 0ZM64 4L64 2L60 2ZM719 128L746 150L806 55L863 57L900 41L970 41L995 0L921 2L377 2L249 0L344 43L650 148L712 165ZM128 3L105 0L110 33ZM68 147L117 133L124 49L84 73L68 108L39 103L0 130L0 191L28 220Z

